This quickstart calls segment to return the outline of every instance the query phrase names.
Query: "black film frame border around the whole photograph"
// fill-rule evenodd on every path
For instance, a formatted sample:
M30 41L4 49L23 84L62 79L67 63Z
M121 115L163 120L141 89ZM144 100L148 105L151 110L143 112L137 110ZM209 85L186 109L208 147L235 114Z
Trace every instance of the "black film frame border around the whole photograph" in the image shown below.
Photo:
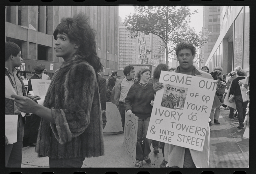
M10 0L12 1L12 0ZM1 16L5 16L5 6L6 5L81 5L81 6L89 6L89 5L110 5L110 6L116 6L116 5L202 5L202 6L225 6L225 5L232 5L232 6L249 6L251 9L256 9L256 1L250 1L250 0L158 0L155 2L154 0L94 0L87 2L88 0L80 0L79 2L76 2L76 0L68 0L63 2L63 0L43 0L47 2L42 2L41 0L33 0L31 3L31 0L20 0L20 2L10 2L9 0L4 0L0 2L0 14ZM13 1L19 1L19 0L13 0ZM253 20L253 17L255 17L254 10L250 10L250 40L253 40L253 32L256 31L255 29L255 21ZM0 24L5 24L4 20L1 20ZM4 35L3 31L5 31L5 25L1 25L0 27L1 32L1 42L4 44ZM3 45L2 44L2 45ZM250 43L250 48L253 48L254 44ZM251 100L254 100L251 98ZM3 111L3 110L2 110ZM251 119L252 122L255 119ZM1 123L1 132L4 132L4 122ZM255 127L251 127L251 132L255 132ZM2 135L2 134L1 134ZM4 136L2 136L4 137ZM251 133L251 137L255 137L254 134ZM2 142L4 144L4 138L2 138ZM250 143L250 153L253 157L253 154L255 154L255 148L252 146L252 142ZM0 152L3 157L5 154L4 146L2 146L2 150ZM117 172L122 174L131 174L131 173L138 173L141 171L148 171L151 174L154 173L170 173L175 171L180 171L182 174L190 174L190 173L202 173L209 171L212 171L216 174L233 174L235 171L244 171L245 173L253 173L255 171L256 167L253 165L255 164L256 160L254 158L249 158L249 164L251 164L249 168L5 168L5 160L1 160L1 168L3 169L4 173L10 173L10 172L21 172L22 174L29 174L29 173L42 173L42 172L53 172L54 174L58 173L68 173L73 174L74 172L85 172L86 174L94 174L94 173L106 173L106 172Z

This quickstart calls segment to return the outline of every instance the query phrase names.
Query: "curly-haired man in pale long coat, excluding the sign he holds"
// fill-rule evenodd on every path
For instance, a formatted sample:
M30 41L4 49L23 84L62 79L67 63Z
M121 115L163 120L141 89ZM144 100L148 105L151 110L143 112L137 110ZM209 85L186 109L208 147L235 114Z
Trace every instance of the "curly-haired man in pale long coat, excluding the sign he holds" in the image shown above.
M198 76L202 78L212 79L211 75L197 70L193 66L193 59L195 57L196 48L191 43L181 42L175 48L179 66L175 73L187 74L191 76ZM226 88L226 83L217 80L217 90L214 98L212 108L221 106L224 103L223 93ZM164 88L162 82L155 83L153 89L155 92ZM205 142L203 151L193 150L173 144L165 143L165 160L168 162L167 167L209 167L209 140L210 140L210 127L207 125Z

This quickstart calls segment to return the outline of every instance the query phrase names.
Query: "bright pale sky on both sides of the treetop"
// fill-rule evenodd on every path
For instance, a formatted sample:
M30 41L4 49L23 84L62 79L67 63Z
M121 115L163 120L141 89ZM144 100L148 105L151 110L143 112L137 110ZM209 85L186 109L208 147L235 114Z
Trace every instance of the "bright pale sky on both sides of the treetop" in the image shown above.
M194 15L191 15L190 26L195 28L196 33L199 33L203 27L203 6L189 6L191 12L198 9ZM124 19L129 13L134 13L133 6L119 6L119 16Z

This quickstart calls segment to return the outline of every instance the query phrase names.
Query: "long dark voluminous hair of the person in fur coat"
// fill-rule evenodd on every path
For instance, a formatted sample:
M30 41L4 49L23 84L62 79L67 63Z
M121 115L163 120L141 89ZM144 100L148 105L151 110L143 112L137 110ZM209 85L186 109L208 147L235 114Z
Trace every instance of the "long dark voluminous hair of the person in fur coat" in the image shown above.
M75 55L80 55L97 73L101 69L102 64L96 52L96 31L89 26L87 20L88 17L82 12L74 15L74 17L62 18L53 36L56 40L58 34L65 33L70 39L70 42L79 44L80 47Z

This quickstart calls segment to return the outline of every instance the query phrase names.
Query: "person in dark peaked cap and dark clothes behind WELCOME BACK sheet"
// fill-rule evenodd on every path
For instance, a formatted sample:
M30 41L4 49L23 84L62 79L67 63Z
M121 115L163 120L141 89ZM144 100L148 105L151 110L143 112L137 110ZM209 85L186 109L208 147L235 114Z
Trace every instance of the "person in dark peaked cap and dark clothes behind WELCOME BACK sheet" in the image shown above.
M42 79L42 74L44 73L45 65L38 64L34 67L34 70L35 70L35 74L30 79ZM30 79L28 80L28 91L33 91ZM28 143L30 147L35 146L40 121L41 121L41 117L35 114L31 114L29 137L28 137Z

